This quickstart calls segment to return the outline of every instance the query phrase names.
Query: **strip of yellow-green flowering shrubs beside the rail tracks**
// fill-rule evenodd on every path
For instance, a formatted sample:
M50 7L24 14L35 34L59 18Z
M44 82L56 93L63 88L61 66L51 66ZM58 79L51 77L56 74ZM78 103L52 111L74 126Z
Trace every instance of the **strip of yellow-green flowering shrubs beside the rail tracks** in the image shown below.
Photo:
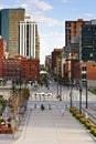
M71 107L70 112L96 137L96 125L86 119L85 114L79 113L76 107Z

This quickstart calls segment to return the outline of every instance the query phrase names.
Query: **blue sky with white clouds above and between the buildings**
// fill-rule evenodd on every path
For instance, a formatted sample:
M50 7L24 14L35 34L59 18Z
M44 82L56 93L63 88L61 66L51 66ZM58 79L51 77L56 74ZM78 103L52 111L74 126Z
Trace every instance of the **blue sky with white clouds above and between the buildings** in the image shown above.
M20 7L38 22L41 64L65 45L65 21L96 19L96 0L0 0L0 9Z

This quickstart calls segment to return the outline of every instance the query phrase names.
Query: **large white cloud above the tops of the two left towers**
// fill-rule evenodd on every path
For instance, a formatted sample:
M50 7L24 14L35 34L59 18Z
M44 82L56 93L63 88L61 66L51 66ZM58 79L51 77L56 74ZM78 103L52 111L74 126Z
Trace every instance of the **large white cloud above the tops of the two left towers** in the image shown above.
M36 21L38 23L43 23L47 27L62 27L62 22L52 19L49 17L45 17L43 11L52 10L53 7L49 4L47 2L40 1L40 0L17 0L17 4L13 6L14 8L24 8L26 16L30 16L33 21ZM0 6L0 8L10 8L10 6Z

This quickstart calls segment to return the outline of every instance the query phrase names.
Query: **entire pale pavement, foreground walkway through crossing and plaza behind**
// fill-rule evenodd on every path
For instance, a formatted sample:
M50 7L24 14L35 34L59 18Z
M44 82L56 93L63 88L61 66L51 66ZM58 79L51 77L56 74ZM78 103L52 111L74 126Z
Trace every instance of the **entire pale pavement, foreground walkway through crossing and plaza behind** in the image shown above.
M62 101L57 99L57 84L51 83L50 89L42 86L36 91L30 91L31 96L28 102L28 110L23 125L15 133L15 138L11 135L0 135L0 144L95 144L87 130L68 112L71 106L71 89L62 85ZM47 95L50 93L50 95ZM82 92L82 106L86 106L86 91ZM79 107L79 90L73 89L72 103ZM44 111L41 111L41 105ZM96 106L96 96L88 93L88 105ZM67 106L67 109L65 109ZM64 115L62 115L64 110ZM90 110L89 110L90 111Z

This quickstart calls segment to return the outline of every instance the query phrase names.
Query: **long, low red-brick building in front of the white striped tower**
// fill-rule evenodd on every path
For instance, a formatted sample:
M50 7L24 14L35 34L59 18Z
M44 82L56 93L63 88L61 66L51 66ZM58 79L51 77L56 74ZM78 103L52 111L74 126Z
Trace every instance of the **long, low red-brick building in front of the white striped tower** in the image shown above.
M2 76L6 81L11 80L15 83L39 81L40 61L20 55L13 59L4 59Z

